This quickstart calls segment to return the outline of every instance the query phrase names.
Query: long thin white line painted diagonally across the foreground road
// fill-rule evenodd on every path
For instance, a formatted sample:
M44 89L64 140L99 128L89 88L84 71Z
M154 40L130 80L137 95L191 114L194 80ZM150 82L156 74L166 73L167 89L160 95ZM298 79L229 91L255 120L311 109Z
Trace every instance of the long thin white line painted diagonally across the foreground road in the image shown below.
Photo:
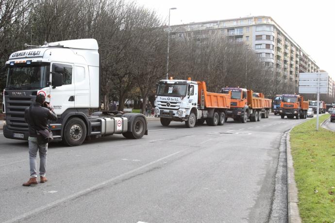
M111 183L111 182L113 182L113 181L115 181L115 180L117 180L117 179L119 179L119 178L122 178L122 177L124 177L124 176L126 176L126 175L133 174L133 173L136 172L136 171L139 171L139 170L144 169L144 168L146 168L146 167L148 167L148 166L151 166L151 165L153 165L153 164L156 164L157 162L160 162L160 161L162 161L162 160L164 160L164 159L168 159L168 158L170 158L170 157L172 157L172 156L174 156L174 155L177 155L177 154L179 154L179 153L184 152L185 150L187 150L187 149L183 149L183 150L181 150L181 151L172 153L172 154L170 154L170 155L168 155L168 156L165 156L165 157L163 157L163 158L154 160L154 161L152 161L152 162L150 162L150 163L147 163L147 164L145 164L145 165L143 165L143 166L140 166L140 167L138 167L138 168L136 168L136 169L134 169L134 170L128 171L128 172L126 172L126 173L124 173L124 174L121 174L121 175L118 175L118 176L116 176L116 177L113 177L113 178L110 178L110 179L108 179L108 180L105 180L105 181L103 181L103 182L101 182L101 183L99 183L99 184L96 184L96 185L94 185L94 186L92 186L92 187L86 188L86 189L84 189L84 190L82 190L82 191L79 191L79 192L70 194L70 195L68 195L68 196L66 196L66 197L64 197L64 198L58 199L58 200L56 200L56 201L54 201L54 202L51 202L51 203L49 203L49 204L47 204L47 205L44 205L44 206L41 206L41 207L37 207L37 208L35 208L35 209L31 210L31 211L28 211L28 212L26 212L26 213L24 213L24 214L22 214L22 215L20 215L20 216L17 216L16 218L12 218L12 219L6 221L5 223L18 222L18 221L20 221L20 220L23 220L23 219L27 218L28 216L31 216L31 215L36 214L36 213L40 213L40 212L42 212L43 210L49 209L50 207L54 207L54 206L56 206L56 205L58 205L58 204L60 204L60 203L62 203L62 202L65 202L65 201L67 201L67 200L73 199L73 198L75 198L75 197L79 197L79 196L81 196L81 195L83 195L83 194L86 194L86 193L89 193L89 192L91 192L91 191L97 190L98 188L101 188L102 186L104 186L104 185L106 185L106 184L108 184L108 183Z

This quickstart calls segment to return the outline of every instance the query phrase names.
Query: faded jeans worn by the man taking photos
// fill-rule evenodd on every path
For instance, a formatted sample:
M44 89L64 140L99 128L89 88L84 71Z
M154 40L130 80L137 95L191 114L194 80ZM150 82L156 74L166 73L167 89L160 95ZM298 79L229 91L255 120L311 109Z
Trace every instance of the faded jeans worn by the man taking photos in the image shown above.
M37 177L36 173L36 156L37 151L39 152L39 175L45 176L47 168L47 152L48 143L38 144L37 142L28 141L29 143L29 165L30 165L30 177Z

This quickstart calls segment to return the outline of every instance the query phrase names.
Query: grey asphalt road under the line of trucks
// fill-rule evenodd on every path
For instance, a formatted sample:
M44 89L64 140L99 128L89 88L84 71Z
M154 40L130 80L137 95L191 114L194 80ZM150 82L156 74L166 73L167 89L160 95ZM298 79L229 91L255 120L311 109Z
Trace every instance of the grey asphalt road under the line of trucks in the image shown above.
M185 128L50 143L47 177L29 179L28 143L0 131L0 222L286 222L283 133L304 119Z

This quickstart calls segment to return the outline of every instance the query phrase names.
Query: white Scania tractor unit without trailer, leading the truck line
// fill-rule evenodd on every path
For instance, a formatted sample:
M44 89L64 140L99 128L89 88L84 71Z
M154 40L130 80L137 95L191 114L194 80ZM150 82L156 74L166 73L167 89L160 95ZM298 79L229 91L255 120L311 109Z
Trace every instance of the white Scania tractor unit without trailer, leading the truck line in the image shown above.
M89 109L98 108L101 101L101 65L95 39L60 41L21 50L10 55L6 67L2 103L6 138L28 140L24 111L38 94L46 96L58 116L57 121L50 122L54 139L67 145L80 145L85 138L115 133L139 139L148 132L143 114L89 115Z

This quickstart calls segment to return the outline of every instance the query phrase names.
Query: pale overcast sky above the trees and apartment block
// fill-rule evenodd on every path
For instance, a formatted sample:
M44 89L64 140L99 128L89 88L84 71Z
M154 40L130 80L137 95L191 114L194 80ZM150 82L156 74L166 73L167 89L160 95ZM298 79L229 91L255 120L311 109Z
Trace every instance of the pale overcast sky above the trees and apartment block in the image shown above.
M335 77L335 7L331 0L135 0L154 9L170 25L189 22L271 16L314 59Z

